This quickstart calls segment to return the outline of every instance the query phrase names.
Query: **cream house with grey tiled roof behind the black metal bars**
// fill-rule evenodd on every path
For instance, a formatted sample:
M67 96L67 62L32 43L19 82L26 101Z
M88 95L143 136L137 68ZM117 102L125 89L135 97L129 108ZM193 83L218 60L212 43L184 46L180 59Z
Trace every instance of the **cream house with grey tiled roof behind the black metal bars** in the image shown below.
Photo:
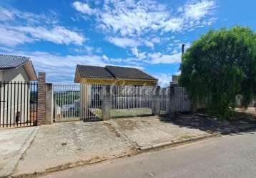
M31 80L37 77L29 58L0 55L0 125L30 122L31 97L35 97Z

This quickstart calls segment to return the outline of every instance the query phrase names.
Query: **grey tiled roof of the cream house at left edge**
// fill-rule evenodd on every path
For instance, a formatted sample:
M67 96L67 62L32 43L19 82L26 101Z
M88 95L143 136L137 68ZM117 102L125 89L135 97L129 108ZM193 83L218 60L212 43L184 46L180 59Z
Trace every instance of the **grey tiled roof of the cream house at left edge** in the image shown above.
M17 68L27 61L29 58L26 57L0 54L0 70Z

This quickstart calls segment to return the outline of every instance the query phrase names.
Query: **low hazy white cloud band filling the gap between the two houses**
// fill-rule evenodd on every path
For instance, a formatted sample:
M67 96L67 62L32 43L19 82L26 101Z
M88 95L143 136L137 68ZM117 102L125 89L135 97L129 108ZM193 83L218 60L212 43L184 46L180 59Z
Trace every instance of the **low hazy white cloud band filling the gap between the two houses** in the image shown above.
M94 55L61 56L59 54L47 53L43 51L9 51L6 52L6 54L31 58L31 61L36 68L36 72L46 72L46 79L49 82L73 82L77 64L92 66L107 65L102 56Z

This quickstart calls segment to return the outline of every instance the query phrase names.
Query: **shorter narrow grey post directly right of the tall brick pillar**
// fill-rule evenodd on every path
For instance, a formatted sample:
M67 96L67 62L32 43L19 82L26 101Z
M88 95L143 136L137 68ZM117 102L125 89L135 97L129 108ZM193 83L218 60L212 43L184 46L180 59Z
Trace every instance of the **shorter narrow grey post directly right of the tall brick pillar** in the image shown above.
M52 83L46 83L46 125L52 124Z

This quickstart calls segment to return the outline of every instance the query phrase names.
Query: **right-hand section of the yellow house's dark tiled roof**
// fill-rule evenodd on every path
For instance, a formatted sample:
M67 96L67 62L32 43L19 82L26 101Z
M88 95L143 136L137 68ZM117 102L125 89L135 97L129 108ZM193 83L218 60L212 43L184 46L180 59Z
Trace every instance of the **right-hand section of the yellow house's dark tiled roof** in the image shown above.
M120 79L141 79L141 80L157 80L151 75L144 73L142 70L137 68L127 68L119 66L106 66L112 75Z

